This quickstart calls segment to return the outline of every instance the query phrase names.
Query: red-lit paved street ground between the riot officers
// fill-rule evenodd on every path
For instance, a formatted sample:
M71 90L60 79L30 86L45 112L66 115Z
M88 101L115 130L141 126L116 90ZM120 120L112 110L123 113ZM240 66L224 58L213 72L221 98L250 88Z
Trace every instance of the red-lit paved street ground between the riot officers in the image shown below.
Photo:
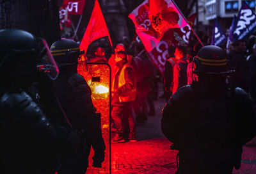
M161 86L159 86L162 89ZM163 91L159 91L159 95ZM147 124L136 126L138 142L111 144L111 173L174 174L177 150L170 149L170 142L164 138L161 128L161 109L165 100L154 101L156 116L148 116ZM241 168L236 174L256 173L256 138L243 148ZM90 166L87 173L108 173Z

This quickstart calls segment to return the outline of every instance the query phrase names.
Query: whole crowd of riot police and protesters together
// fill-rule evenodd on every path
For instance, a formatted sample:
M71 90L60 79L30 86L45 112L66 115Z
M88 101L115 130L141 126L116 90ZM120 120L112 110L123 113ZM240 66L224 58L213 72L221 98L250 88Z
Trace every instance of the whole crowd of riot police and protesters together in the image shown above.
M111 143L137 141L136 126L156 115L163 82L161 127L180 150L179 172L239 168L256 134L255 37L247 43L172 46L162 79L143 43L124 37L114 50L104 38L93 43L86 61L111 67ZM63 39L49 49L31 33L2 29L0 45L1 173L85 173L91 147L93 166L102 167L106 146L92 91L77 74L79 44Z

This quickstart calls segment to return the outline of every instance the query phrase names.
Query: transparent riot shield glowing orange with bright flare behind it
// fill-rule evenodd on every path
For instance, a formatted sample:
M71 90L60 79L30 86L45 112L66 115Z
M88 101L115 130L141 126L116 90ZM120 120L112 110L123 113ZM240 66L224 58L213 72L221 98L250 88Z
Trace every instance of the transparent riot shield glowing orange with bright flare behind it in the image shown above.
M96 113L100 113L102 136L106 144L105 161L102 168L92 168L92 155L89 157L88 173L110 173L110 68L104 63L88 63L84 68L83 61L79 61L77 72L81 74L92 90L92 102Z

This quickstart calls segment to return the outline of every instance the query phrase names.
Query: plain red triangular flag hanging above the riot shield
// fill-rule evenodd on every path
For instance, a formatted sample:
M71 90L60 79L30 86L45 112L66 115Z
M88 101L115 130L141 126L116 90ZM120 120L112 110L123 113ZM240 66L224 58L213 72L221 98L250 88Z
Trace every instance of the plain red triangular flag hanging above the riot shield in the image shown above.
M80 44L80 49L84 50L84 52L86 53L88 49L88 45L90 45L90 43L104 36L108 36L109 42L112 46L112 42L110 39L110 35L108 33L108 28L107 28L105 19L100 10L99 2L98 0L96 0L94 4L93 12L92 12L92 17L88 23L88 26L86 28L83 39Z

